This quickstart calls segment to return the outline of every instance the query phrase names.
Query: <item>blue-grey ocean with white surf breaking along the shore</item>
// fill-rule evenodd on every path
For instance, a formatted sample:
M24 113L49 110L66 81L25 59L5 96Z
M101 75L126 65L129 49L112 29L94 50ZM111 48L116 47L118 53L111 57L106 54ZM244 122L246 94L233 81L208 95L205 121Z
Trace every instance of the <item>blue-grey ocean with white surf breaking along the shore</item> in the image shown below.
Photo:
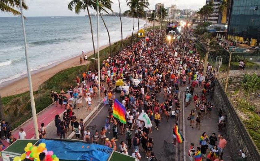
M97 17L93 16L93 32L97 47ZM119 17L103 17L111 43L121 40ZM27 17L25 30L30 70L35 71L92 51L89 17ZM139 20L142 28L145 20ZM133 19L122 17L123 38L132 34ZM16 79L26 71L24 38L20 17L0 17L0 84ZM109 44L106 28L99 18L100 47ZM135 29L137 32L137 19Z

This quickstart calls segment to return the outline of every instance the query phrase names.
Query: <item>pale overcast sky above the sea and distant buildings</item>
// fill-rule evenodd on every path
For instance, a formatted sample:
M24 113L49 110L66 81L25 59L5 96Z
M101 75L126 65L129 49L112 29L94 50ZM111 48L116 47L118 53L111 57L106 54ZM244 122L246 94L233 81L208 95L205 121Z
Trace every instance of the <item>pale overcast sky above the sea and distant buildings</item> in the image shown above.
M111 0L112 10L119 12L118 0ZM74 11L68 10L68 3L71 0L25 0L29 10L24 11L24 16L76 16ZM164 7L170 7L175 4L180 9L193 9L198 10L205 5L206 0L149 0L150 4L164 3ZM128 10L126 0L120 0L121 12ZM149 6L154 9L155 6ZM18 9L17 9L18 10ZM91 10L91 13L94 11ZM82 11L79 15L87 15L87 11ZM9 13L0 12L0 17L12 16Z

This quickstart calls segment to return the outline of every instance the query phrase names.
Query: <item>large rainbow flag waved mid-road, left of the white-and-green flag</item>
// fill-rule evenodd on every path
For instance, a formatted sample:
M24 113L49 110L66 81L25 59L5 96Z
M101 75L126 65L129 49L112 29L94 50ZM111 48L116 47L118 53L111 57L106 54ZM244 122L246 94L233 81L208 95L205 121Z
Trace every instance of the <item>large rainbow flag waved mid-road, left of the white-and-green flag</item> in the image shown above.
M118 118L119 121L124 124L126 124L125 112L126 112L125 107L117 99L115 99L114 108L113 108L113 116L115 118Z

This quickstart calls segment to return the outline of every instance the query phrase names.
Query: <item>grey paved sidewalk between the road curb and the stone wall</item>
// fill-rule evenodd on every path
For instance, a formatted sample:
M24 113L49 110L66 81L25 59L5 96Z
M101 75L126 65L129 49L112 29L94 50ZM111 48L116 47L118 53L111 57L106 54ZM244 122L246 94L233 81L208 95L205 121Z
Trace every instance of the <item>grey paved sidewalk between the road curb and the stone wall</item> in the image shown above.
M195 96L195 94L198 94L198 96L201 96L201 92L200 92L201 87L196 87L195 88L195 92L193 94L193 96ZM214 105L214 102L212 102L212 100L210 100L207 97L207 102L211 102ZM219 122L219 117L218 117L218 110L216 108L213 108L213 110L211 111L211 118L209 119L209 117L203 116L203 120L201 121L201 129L198 130L196 128L196 117L194 120L194 128L191 128L190 125L190 121L187 120L187 118L189 117L189 114L191 112L191 110L194 110L197 116L197 112L195 109L195 105L194 105L194 101L192 99L191 104L188 107L184 107L184 114L185 114L185 141L186 141L186 154L184 154L186 156L186 160L189 160L188 158L188 150L190 147L190 143L194 143L194 147L195 149L197 147L200 147L199 145L199 138L201 137L203 132L206 132L208 137L210 137L212 135L212 133L216 133L216 136L218 137L218 134L223 134L224 138L225 137L225 133L224 131L219 132L218 131L218 122ZM182 114L181 114L182 115ZM217 145L219 144L219 138L217 141ZM232 160L232 155L230 153L229 148L231 148L232 145L228 142L227 140L227 147L224 149L224 153L223 153L223 159L225 161L230 161ZM206 155L209 154L209 149L206 151ZM205 156L206 157L206 156ZM205 158L206 160L206 158Z

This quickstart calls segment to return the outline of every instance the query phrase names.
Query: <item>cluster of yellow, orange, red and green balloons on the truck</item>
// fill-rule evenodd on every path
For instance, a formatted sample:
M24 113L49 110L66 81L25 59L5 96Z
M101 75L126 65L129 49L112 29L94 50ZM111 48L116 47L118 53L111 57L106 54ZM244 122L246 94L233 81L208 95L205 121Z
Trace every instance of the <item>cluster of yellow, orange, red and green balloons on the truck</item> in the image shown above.
M45 143L41 143L38 146L35 146L31 142L29 142L24 148L24 151L24 154L22 154L20 157L15 157L13 161L22 161L25 158L33 161L40 161L39 155L41 153L45 153L46 161L59 161L59 158L53 154L53 151L48 151L46 149Z

